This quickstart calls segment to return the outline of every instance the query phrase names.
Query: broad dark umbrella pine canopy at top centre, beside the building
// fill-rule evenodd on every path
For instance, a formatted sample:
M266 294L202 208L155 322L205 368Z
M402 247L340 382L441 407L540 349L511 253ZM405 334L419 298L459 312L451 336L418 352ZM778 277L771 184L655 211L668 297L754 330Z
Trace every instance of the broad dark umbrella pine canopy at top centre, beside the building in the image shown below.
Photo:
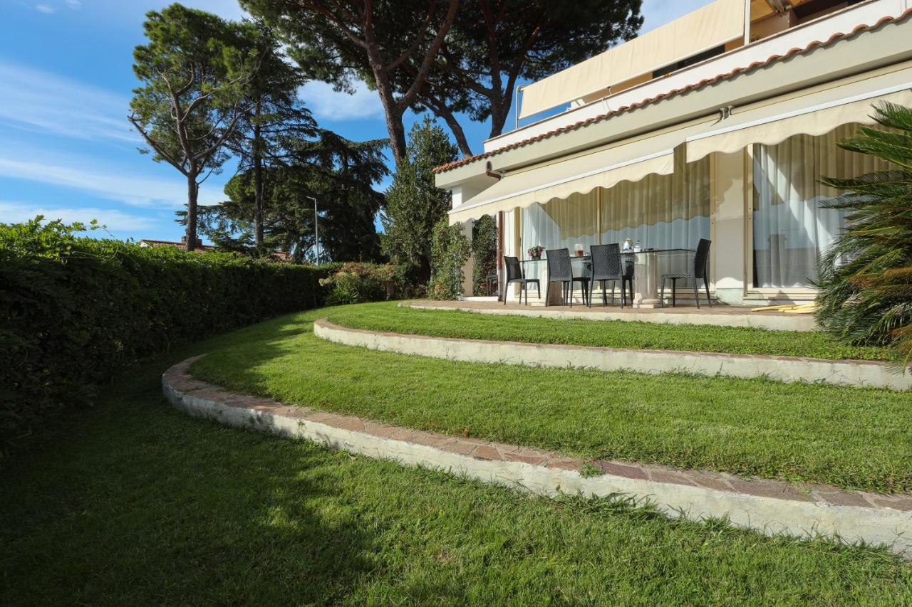
M535 80L636 36L642 0L242 0L277 27L311 77L364 80L386 112L393 158L406 109L429 109L472 149L460 122L503 132L521 79Z

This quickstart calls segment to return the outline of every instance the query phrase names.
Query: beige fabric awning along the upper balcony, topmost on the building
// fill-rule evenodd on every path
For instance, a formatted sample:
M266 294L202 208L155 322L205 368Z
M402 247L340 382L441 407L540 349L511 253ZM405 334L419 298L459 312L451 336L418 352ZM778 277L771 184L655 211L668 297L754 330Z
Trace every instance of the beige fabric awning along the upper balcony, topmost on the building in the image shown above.
M520 118L604 91L744 36L744 0L710 5L523 87Z

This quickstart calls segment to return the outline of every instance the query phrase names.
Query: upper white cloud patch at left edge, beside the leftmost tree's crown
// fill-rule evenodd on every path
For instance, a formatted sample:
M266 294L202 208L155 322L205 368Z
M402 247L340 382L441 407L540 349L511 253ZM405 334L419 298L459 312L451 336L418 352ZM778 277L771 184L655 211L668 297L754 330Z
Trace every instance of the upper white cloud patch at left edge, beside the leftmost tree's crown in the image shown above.
M0 59L0 123L78 139L139 141L130 99L67 77Z

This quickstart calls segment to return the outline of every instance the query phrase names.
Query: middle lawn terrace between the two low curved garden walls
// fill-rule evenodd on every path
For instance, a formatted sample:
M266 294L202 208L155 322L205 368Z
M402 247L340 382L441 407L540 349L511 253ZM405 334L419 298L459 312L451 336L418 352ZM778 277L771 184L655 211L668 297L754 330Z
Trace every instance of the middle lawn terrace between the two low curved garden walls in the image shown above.
M574 457L912 489L909 393L480 365L314 337L315 318L357 311L326 309L259 325L226 339L227 347L192 373L240 393Z

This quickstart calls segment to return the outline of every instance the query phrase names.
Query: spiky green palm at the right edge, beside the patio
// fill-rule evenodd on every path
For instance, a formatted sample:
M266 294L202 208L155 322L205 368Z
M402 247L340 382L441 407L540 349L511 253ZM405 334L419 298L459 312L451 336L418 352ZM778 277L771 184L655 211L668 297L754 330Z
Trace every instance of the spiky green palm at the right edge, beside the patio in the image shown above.
M912 108L884 103L840 147L886 160L889 170L852 179L822 178L844 191L822 206L846 212L845 231L826 252L816 286L817 321L855 345L912 357Z

